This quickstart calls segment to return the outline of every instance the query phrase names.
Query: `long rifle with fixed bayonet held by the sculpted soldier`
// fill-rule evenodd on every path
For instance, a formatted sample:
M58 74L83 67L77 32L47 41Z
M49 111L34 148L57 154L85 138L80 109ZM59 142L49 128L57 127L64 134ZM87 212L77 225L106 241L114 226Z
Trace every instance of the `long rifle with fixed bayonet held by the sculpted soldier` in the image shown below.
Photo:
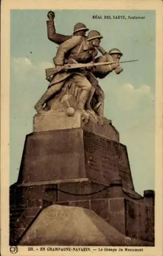
M118 63L126 63L126 62L132 62L132 61L138 61L138 59L132 59L132 60L126 60L126 61L120 61ZM107 62L98 62L98 63L76 63L76 64L66 64L62 66L62 68L50 68L50 69L45 69L45 74L46 74L46 79L51 76L55 75L60 72L64 72L67 70L72 70L72 69L81 69L81 68L90 68L90 67L97 67L97 66L102 66L102 65L111 65L117 63L117 61L107 61Z

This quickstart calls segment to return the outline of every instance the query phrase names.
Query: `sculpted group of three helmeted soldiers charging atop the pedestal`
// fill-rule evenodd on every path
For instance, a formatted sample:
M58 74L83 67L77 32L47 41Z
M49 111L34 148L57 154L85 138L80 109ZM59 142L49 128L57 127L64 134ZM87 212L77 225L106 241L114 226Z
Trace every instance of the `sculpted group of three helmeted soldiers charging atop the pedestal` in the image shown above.
M83 23L74 26L73 35L62 35L56 32L55 13L49 11L47 36L59 45L53 62L56 66L51 75L46 76L50 82L48 89L35 105L38 114L43 114L55 106L66 104L67 115L74 114L74 109L82 113L84 120L89 118L101 121L104 109L104 93L97 78L104 78L113 70L119 74L120 50L114 48L108 53L100 46L101 34L89 29ZM98 51L101 56L96 57ZM66 69L65 67L68 67ZM48 71L48 70L47 70Z

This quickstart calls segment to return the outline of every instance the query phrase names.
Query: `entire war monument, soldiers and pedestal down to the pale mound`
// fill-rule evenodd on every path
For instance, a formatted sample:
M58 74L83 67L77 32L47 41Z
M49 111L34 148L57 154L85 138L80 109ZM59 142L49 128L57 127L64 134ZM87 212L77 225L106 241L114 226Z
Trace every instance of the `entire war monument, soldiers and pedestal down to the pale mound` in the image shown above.
M154 191L134 190L127 148L103 115L100 81L121 75L123 54L83 23L58 34L47 16L59 47L10 186L10 245L154 246Z

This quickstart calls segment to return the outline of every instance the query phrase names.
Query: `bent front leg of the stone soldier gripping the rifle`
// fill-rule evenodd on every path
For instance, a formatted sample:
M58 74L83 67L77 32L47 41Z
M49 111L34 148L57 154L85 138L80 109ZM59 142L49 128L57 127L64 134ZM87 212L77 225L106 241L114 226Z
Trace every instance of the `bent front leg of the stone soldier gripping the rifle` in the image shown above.
M80 93L79 99L78 99L78 108L80 110L84 110L85 104L88 100L90 91L91 91L91 83L88 81L88 79L85 76L80 75L73 75L72 77L73 82L77 87L82 89L82 92Z

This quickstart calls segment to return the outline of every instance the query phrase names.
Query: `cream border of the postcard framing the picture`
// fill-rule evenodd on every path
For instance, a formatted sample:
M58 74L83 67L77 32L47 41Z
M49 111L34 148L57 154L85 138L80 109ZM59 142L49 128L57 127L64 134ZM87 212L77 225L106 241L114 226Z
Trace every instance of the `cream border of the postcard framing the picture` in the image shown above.
M155 247L144 247L143 253L130 255L160 255L162 248L162 1L4 1L1 19L1 250L9 251L9 84L10 84L10 9L141 9L156 11L156 134L155 134ZM21 248L17 255L29 255ZM59 253L58 253L59 254ZM85 252L82 255L87 254ZM94 254L96 254L94 252ZM101 253L104 254L104 253ZM126 255L125 252L114 255ZM40 255L35 252L33 255ZM45 255L45 252L44 252ZM62 253L60 254L62 255Z

